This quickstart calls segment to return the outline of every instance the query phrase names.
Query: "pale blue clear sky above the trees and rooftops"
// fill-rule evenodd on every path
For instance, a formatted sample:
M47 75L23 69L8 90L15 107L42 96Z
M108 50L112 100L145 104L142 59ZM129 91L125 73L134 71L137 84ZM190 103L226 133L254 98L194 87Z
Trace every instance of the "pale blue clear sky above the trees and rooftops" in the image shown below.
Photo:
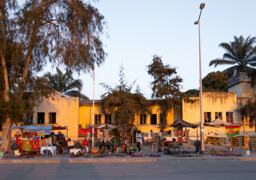
M101 67L95 67L95 99L105 92L99 83L119 83L121 63L128 83L137 78L142 93L150 98L152 79L146 66L155 54L162 56L164 63L178 67L177 73L184 80L182 91L199 88L199 31L194 22L199 18L202 2L100 0L92 3L105 16L110 37L102 36L108 57ZM209 67L211 60L222 58L225 53L218 47L220 43L233 41L234 35L256 36L256 1L206 0L204 3L200 19L202 77L228 67ZM83 93L92 99L91 74L81 74L79 78L84 82Z

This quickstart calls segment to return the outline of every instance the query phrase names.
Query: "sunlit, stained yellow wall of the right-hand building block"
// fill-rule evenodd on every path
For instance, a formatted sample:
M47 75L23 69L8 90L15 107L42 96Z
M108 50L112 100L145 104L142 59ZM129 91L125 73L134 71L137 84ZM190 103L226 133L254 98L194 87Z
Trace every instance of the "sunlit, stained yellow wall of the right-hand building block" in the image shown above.
M190 123L200 122L200 98L191 97L189 99L196 100L196 102L182 100L182 119ZM233 122L239 123L241 116L235 110L245 100L246 98L236 97L235 92L203 92L203 112L211 112L212 121L215 120L215 112L222 112L223 121L226 121L226 112L233 112ZM189 128L189 130L191 135L197 135L196 129ZM256 135L254 127L245 127L245 131L247 135ZM200 131L198 133L200 134ZM216 136L214 133L218 133L218 136L225 136L225 128L204 128L205 138L207 135Z

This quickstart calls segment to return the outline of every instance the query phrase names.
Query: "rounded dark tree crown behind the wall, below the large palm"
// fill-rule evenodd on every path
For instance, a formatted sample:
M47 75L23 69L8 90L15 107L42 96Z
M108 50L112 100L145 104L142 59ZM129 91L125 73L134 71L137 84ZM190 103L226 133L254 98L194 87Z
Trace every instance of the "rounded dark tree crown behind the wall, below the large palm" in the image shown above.
M208 75L202 79L203 91L227 92L227 81L228 76L220 71L208 73Z

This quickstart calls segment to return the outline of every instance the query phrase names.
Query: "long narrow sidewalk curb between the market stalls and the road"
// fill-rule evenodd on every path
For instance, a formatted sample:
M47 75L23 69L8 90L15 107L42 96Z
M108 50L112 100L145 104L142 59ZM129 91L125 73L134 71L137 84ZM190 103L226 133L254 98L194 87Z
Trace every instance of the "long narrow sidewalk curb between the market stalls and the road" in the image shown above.
M136 157L135 157L136 158ZM138 161L191 161L191 160L256 160L256 158L170 158L170 159L50 159L50 160L0 160L0 163L42 163L42 162L138 162Z

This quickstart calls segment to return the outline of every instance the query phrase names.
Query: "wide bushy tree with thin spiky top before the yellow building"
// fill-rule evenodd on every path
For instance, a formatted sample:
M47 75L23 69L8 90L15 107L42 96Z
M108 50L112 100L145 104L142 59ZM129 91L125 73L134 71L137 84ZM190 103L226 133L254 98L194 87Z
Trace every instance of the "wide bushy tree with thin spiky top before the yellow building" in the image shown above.
M135 113L149 113L150 104L149 101L140 92L140 87L137 85L137 89L132 93L132 89L136 83L127 85L123 76L123 66L120 66L119 71L119 85L115 85L112 88L110 85L101 83L105 88L106 93L101 96L103 101L101 108L104 114L115 114L115 124L127 123L127 128L131 129L135 121Z

